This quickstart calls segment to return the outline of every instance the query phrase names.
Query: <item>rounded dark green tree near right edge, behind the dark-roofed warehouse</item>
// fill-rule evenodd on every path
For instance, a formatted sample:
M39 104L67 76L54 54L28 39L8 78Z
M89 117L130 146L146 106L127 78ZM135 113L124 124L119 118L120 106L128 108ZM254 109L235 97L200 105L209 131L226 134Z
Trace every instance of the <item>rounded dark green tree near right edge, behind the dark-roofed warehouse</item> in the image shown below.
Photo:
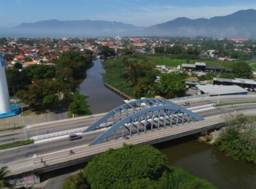
M252 79L253 72L251 66L247 62L238 62L233 66L233 74L236 78Z

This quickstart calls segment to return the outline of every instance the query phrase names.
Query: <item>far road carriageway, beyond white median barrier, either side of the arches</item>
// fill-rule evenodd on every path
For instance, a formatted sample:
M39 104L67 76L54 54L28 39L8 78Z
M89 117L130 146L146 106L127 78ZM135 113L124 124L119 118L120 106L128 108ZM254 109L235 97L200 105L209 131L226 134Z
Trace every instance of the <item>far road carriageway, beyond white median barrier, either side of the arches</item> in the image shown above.
M220 97L220 103L223 102L239 102L239 101L256 101L256 95L251 96L250 98L248 96L240 96L239 98L231 97L231 98L222 98ZM217 98L201 98L200 100L190 100L190 106L186 107L193 107L193 106L201 106L205 104L216 104ZM182 105L183 102L177 103L179 105ZM75 129L75 128L83 128L86 126L90 126L96 120L98 120L101 117L93 117L93 118L87 118L86 122L81 120L74 120L72 124L70 123L61 123L61 124L55 124L55 126L41 126L38 128L31 128L26 129L27 138L30 139L33 136L36 135L44 135L47 133L54 133L57 131L64 131L68 129ZM24 130L21 129L19 131L8 131L5 133L0 134L0 144L6 144L9 142L18 141L18 140L25 140L25 133Z

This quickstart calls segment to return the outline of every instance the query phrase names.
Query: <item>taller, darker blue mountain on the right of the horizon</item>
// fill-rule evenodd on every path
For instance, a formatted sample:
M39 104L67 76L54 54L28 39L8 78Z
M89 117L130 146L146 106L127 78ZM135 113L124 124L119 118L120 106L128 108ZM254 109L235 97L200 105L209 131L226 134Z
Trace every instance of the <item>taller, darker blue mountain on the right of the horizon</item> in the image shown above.
M240 10L228 16L211 19L179 17L166 23L147 27L137 33L140 36L211 36L256 37L256 10Z

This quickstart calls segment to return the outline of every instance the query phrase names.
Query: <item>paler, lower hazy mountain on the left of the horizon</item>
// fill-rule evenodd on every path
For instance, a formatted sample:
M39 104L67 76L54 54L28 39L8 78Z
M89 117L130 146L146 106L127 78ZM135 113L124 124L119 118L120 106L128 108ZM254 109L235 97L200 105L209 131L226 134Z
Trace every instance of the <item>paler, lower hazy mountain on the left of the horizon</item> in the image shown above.
M38 21L36 23L21 23L14 28L19 32L36 32L43 36L118 36L129 30L140 27L117 21L59 21L57 19Z

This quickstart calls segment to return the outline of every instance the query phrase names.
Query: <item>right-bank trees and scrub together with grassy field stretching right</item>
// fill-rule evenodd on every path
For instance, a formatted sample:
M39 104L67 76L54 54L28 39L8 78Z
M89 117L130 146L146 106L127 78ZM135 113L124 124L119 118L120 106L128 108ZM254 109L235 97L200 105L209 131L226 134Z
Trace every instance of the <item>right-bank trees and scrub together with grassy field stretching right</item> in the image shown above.
M103 74L103 81L129 96L133 96L133 98L144 96L153 97L157 95L163 96L164 98L184 96L186 92L185 80L189 77L186 72L160 73L155 70L156 65L176 67L177 65L181 65L181 63L186 63L184 59L175 59L181 55L183 54L140 54L111 58L103 62L103 67L106 70L105 74ZM198 58L193 54L185 54L183 56L186 58ZM194 61L204 60L195 59ZM209 65L222 65L222 63L216 61L208 61ZM232 72L229 73L208 72L203 76L195 76L198 77L199 81L212 80L216 76L221 78L253 77L251 67L246 62L232 62L230 68ZM159 82L155 82L157 76L160 76Z

